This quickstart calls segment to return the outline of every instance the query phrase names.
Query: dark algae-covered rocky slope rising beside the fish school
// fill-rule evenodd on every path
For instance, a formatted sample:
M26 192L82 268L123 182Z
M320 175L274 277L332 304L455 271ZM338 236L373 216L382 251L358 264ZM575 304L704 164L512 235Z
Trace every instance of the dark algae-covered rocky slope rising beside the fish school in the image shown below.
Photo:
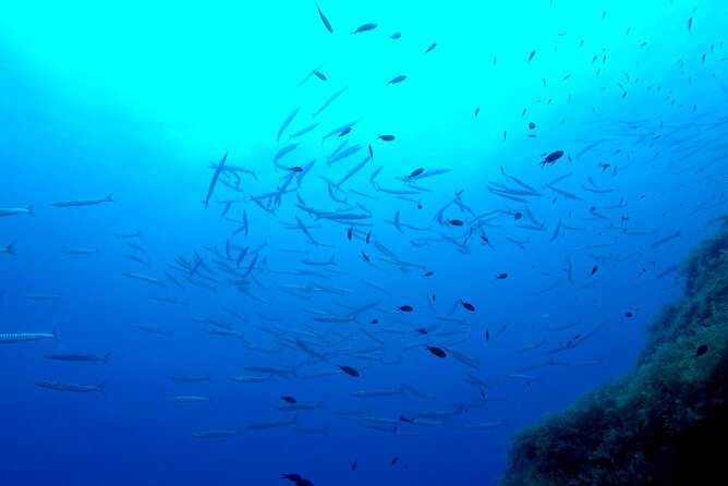
M635 368L520 433L501 485L725 484L728 223L683 272Z

